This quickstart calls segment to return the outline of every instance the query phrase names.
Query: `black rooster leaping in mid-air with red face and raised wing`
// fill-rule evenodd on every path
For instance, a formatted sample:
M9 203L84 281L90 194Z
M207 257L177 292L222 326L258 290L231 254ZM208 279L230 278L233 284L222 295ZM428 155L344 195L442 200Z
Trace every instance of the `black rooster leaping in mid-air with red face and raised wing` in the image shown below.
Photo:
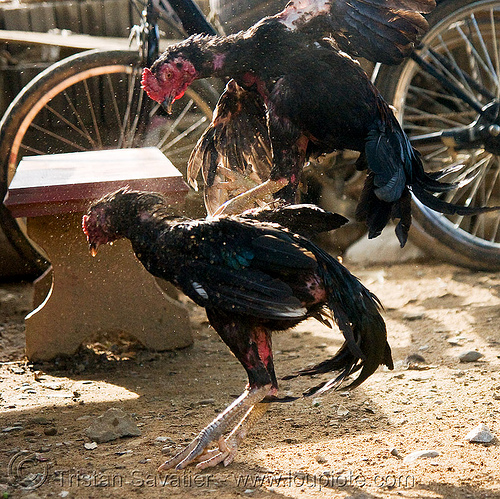
M203 171L209 198L218 168L265 182L215 213L242 211L249 201L270 194L295 202L307 158L352 149L361 153L357 167L368 169L357 218L366 221L369 237L379 235L391 218L399 219L396 234L403 246L411 225L410 189L442 213L488 208L462 207L433 195L457 186L438 181L444 172L424 172L389 105L340 49L398 63L427 29L421 13L434 5L434 0L294 0L246 31L192 36L168 47L144 70L143 88L169 108L195 79L233 78L193 151L188 176L194 182ZM322 38L325 34L333 39ZM206 204L213 211L210 199Z

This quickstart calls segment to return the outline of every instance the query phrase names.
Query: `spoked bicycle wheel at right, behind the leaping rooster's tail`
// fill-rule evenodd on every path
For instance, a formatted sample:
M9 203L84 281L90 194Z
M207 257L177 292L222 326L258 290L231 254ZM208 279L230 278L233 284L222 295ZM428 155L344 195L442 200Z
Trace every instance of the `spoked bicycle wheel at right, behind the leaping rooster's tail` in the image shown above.
M472 179L444 199L500 205L500 121L495 114L500 0L444 0L428 20L430 30L418 51L421 60L382 67L377 86L396 107L426 170L453 167L443 180ZM430 74L434 70L444 76L441 81ZM490 113L484 113L486 105ZM500 269L499 212L444 216L415 204L417 230L410 237L417 245L456 265Z

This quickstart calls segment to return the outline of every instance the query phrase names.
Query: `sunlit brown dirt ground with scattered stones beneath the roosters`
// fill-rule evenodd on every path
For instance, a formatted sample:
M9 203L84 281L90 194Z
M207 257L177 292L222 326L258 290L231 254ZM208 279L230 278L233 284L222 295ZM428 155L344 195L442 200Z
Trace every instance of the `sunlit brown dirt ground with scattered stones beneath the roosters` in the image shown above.
M230 466L168 474L155 472L166 455L246 382L204 312L191 305L195 343L182 351L102 340L33 365L23 358L31 288L0 286L1 497L500 498L498 440L465 438L480 423L500 435L500 273L440 264L351 271L385 306L394 371L380 369L352 393L274 404ZM340 343L314 321L276 335L278 376ZM469 350L484 356L460 362ZM408 364L415 354L420 362ZM282 381L281 392L318 382ZM141 436L86 448L84 430L111 407L131 414ZM404 461L420 450L433 457Z

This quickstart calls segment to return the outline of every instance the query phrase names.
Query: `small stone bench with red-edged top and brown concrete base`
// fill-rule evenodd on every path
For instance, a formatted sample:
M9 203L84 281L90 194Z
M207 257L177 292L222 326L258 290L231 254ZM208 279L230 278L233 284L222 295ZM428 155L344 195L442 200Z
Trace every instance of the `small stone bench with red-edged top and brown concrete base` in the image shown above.
M49 360L72 354L92 336L125 332L145 347L171 350L192 343L186 307L173 287L162 289L132 252L116 241L93 258L81 228L89 204L120 187L161 192L183 202L188 187L156 148L29 156L19 164L5 205L26 217L28 237L51 262L35 282L26 317L26 355Z

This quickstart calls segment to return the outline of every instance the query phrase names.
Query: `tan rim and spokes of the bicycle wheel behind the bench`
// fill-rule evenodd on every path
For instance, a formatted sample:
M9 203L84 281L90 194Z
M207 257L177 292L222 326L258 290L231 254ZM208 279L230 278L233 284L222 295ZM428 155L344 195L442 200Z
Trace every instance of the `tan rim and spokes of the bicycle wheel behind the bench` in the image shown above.
M133 55L121 57L127 61ZM8 182L25 155L145 145L157 146L185 169L192 146L210 120L211 104L188 89L172 116L158 113L158 106L140 89L141 70L130 62L103 61L62 79L55 74L54 85L47 73L43 86L50 88L26 110L11 141Z

